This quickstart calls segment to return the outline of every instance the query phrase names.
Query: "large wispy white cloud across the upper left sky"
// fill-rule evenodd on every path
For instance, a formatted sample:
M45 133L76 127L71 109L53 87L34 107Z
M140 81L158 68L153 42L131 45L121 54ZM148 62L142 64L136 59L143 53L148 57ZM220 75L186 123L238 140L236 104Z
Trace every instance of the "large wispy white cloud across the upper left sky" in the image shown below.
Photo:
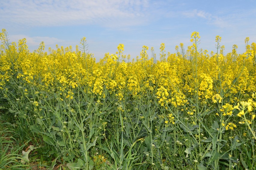
M101 23L103 25L139 24L148 0L40 0L2 1L4 25L59 26ZM129 23L130 25L131 23Z

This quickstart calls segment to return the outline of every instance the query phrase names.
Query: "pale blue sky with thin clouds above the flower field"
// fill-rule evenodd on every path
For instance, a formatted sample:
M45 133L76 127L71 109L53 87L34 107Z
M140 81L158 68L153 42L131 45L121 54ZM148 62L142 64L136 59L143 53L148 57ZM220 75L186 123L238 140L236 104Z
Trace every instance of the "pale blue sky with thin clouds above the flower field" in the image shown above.
M157 59L160 44L166 53L175 46L192 45L191 33L199 32L199 48L217 52L215 37L222 37L224 53L238 45L245 52L245 38L256 42L256 0L0 0L0 28L11 42L26 38L32 52L44 42L45 51L80 45L86 37L88 50L96 61L105 53L136 58L142 46L154 47Z

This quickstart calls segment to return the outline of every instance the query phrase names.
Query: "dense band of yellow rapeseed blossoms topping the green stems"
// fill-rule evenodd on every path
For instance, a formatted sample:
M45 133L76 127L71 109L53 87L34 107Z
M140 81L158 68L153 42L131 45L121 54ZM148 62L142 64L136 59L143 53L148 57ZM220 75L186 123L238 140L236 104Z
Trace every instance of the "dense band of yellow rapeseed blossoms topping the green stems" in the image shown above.
M149 57L148 46L143 46L140 58L130 60L131 56L123 55L124 45L119 44L113 54L106 53L96 62L93 54L86 53L78 46L59 47L56 50L44 50L42 42L33 52L28 50L26 40L18 44L6 44L5 30L1 33L1 65L0 88L13 78L23 84L32 84L41 89L58 89L61 92L72 92L82 88L88 95L102 98L103 95L115 95L118 100L127 97L140 98L147 92L154 95L155 100L162 107L183 107L197 96L200 104L237 103L239 94L252 94L256 89L256 45L248 44L246 52L237 54L237 46L233 46L230 53L198 50L191 45L187 49L181 43L176 46L176 53L166 53L165 44L160 45L160 60L155 56ZM191 35L197 44L200 39L198 32ZM221 37L216 37L220 42ZM85 37L81 44L86 42ZM198 44L197 44L198 45ZM151 48L152 50L152 48ZM128 61L127 61L128 59ZM105 93L107 91L108 93ZM63 93L64 94L64 93ZM75 95L65 94L73 99ZM248 112L255 108L252 101L237 103L240 109L238 116L245 112L241 106L246 106ZM231 115L230 105L221 105L223 115Z

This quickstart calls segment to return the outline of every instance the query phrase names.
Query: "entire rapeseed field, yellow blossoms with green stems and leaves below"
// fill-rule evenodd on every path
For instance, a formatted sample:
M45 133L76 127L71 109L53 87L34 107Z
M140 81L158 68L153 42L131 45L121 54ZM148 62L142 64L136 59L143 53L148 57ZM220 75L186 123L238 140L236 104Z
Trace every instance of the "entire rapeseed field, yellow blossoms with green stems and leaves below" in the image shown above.
M254 169L256 44L30 52L0 33L0 169ZM151 57L149 57L151 55Z

